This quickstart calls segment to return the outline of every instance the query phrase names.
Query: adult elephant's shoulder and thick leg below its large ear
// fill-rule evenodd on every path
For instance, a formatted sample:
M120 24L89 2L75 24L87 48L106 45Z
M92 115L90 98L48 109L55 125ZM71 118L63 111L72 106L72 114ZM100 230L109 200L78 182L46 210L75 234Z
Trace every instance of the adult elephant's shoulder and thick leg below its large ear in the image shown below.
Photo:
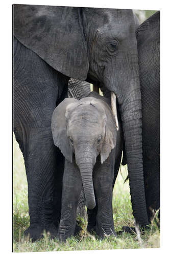
M66 84L65 77L14 39L14 133L25 160L30 215L25 234L32 241L44 229L57 234L64 158L53 143L51 117Z

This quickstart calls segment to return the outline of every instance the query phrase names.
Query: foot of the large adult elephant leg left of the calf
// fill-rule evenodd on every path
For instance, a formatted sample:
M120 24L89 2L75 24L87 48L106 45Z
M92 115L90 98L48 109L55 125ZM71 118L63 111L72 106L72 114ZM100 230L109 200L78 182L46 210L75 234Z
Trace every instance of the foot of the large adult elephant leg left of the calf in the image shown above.
M43 238L43 231L45 228L38 226L38 227L29 227L24 232L26 238L31 239L32 242L35 242L38 239Z

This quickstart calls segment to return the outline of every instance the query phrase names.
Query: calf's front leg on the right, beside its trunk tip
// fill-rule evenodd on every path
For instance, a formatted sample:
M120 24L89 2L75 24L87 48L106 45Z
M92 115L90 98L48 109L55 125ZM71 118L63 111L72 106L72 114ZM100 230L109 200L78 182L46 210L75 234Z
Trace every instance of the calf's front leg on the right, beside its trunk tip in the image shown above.
M111 154L115 154L114 150ZM100 238L104 238L105 235L116 236L112 211L113 159L114 157L109 156L103 164L98 161L93 171L94 190L98 205L95 229Z

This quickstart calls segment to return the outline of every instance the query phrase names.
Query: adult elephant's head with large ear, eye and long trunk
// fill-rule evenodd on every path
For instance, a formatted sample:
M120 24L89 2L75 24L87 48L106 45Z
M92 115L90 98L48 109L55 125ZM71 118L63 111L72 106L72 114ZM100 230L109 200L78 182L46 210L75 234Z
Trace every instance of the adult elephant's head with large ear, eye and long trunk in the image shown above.
M133 214L139 224L148 224L132 10L14 5L14 35L57 71L102 82L115 93L123 122Z

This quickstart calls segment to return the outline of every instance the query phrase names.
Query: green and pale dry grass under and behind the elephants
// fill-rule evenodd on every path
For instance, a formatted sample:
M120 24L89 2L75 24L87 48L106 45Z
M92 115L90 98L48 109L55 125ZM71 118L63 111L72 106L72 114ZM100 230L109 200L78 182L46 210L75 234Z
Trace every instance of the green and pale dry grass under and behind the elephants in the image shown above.
M119 171L113 191L113 218L115 231L122 230L122 226L134 226L129 193L129 181L124 184L127 177L127 167L122 166ZM144 234L129 234L123 232L116 238L106 237L99 240L86 231L86 220L82 221L82 232L72 237L66 243L52 240L44 233L43 238L32 243L23 237L23 232L29 227L28 191L25 165L19 146L13 138L13 251L70 251L70 250L106 250L128 248L158 248L160 247L160 230L156 225L157 214L151 223L151 228Z

